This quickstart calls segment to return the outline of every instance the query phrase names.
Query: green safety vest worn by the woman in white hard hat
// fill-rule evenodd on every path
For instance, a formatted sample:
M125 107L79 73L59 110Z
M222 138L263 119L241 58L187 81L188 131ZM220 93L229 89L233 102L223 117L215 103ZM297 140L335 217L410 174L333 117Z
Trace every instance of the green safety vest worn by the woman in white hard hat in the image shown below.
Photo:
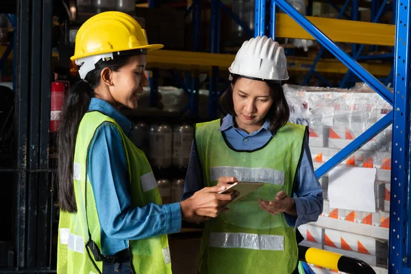
M287 123L261 149L236 151L219 131L220 123L196 125L203 182L215 186L219 177L234 176L264 186L206 223L199 273L292 273L298 260L294 227L287 225L284 214L262 210L258 199L274 201L280 190L292 196L306 127Z

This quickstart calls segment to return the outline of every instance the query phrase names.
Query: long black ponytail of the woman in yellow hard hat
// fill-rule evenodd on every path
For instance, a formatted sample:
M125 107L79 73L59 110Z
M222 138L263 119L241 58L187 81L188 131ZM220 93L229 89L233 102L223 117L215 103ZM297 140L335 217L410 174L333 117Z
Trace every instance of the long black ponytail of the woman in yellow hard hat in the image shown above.
M108 67L119 71L129 62L132 55L118 55L109 61L100 60L95 69L87 73L86 79L71 88L64 103L58 128L58 200L62 210L77 212L73 185L73 161L75 141L80 121L88 110L95 88L100 84L101 71Z

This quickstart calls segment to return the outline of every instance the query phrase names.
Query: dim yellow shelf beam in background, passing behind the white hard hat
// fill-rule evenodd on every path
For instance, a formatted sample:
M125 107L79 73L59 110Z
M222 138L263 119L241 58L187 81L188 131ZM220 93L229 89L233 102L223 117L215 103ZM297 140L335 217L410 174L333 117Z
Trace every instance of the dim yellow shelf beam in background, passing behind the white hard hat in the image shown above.
M235 55L221 53L202 53L193 51L153 51L147 55L148 68L179 69L184 71L210 71L212 66L219 66L227 71ZM309 71L314 58L297 58L289 56L288 71ZM390 64L360 63L364 69L375 76L387 76ZM347 67L337 59L321 59L316 65L319 73L347 73Z

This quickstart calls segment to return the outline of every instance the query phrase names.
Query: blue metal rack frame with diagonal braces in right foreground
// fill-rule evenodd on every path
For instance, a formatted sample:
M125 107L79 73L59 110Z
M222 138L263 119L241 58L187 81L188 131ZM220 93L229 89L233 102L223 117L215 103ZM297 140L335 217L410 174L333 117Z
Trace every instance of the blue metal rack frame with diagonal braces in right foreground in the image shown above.
M301 27L306 29L321 45L332 52L336 58L360 77L371 88L393 105L393 111L366 130L349 146L337 153L332 159L316 170L318 177L359 149L383 129L393 123L393 147L391 167L391 205L390 205L390 245L388 273L411 273L411 229L410 220L410 105L411 105L411 60L410 60L410 8L411 0L394 3L396 11L394 94L384 84L366 71L356 60L347 55L332 40L316 28L286 0L256 0L256 33L275 37L275 5L290 15ZM269 7L267 7L269 5ZM266 24L265 12L271 10L270 22Z

